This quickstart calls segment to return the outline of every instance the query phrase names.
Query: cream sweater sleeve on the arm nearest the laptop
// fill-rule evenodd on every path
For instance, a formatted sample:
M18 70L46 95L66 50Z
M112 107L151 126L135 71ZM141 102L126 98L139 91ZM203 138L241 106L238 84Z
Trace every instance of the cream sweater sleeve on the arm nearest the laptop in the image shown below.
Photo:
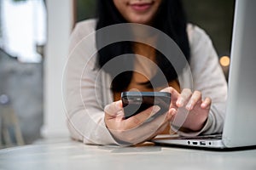
M205 126L199 132L178 133L184 136L221 133L224 126L227 82L218 64L218 55L206 32L197 26L189 28L191 50L190 70L194 90L201 91L203 99L210 97L212 106Z

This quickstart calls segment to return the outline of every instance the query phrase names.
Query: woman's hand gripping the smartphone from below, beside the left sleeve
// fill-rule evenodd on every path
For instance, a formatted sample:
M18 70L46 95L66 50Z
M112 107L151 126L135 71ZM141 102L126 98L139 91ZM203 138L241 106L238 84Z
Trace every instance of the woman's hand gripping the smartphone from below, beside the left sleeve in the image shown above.
M141 113L124 119L122 101L116 101L106 105L105 123L115 139L124 144L138 144L145 140L153 139L154 136L165 130L175 113L166 112L150 122L146 122L150 116L160 111L160 107L154 105Z

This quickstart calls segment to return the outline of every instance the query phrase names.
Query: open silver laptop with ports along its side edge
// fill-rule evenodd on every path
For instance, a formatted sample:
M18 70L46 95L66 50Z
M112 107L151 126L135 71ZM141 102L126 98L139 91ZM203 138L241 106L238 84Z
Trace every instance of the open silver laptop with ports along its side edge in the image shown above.
M203 138L157 136L154 143L206 148L256 145L256 1L236 0L224 130Z

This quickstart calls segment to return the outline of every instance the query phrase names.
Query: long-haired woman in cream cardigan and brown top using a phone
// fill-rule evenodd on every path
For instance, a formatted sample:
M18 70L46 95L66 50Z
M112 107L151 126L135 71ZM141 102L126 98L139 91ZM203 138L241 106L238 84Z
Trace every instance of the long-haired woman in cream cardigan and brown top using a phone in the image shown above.
M82 140L86 144L138 144L166 132L166 129L169 131L170 123L172 130L181 135L220 133L227 95L224 74L218 65L211 40L200 28L186 22L180 1L98 0L97 4L97 20L79 23L71 38L66 102L68 126L73 139ZM185 74L185 65L179 65L177 69L170 62L172 56L168 58L148 45L149 42L153 42L155 47L163 45L158 34L151 35L147 31L131 28L125 34L131 34L135 39L136 35L143 34L148 44L124 41L102 48L102 42L108 42L108 38L114 34L106 35L101 30L120 23L152 26L171 37L189 62L193 82L180 82L179 79ZM95 30L96 35L88 38ZM137 31L140 33L136 34ZM97 54L90 57L88 50L96 50ZM130 54L135 54L135 57ZM119 56L122 58L117 63L110 67L104 66ZM144 62L140 56L157 66ZM127 65L133 70L124 69L116 75L113 67L126 68ZM168 88L161 81L154 81L160 72L166 77ZM151 82L157 83L153 86ZM194 87L195 91L182 87ZM134 89L171 93L169 111L147 122L148 117L160 110L155 105L124 119L120 93ZM186 119L175 122L184 113L188 113Z

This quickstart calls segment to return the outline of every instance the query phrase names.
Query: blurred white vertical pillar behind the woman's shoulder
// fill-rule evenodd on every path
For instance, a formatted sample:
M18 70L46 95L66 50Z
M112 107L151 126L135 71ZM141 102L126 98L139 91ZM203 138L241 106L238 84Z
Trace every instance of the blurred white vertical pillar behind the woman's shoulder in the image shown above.
M73 1L46 0L48 42L44 59L44 137L68 136L62 102L62 71L67 59L68 39L73 26Z

